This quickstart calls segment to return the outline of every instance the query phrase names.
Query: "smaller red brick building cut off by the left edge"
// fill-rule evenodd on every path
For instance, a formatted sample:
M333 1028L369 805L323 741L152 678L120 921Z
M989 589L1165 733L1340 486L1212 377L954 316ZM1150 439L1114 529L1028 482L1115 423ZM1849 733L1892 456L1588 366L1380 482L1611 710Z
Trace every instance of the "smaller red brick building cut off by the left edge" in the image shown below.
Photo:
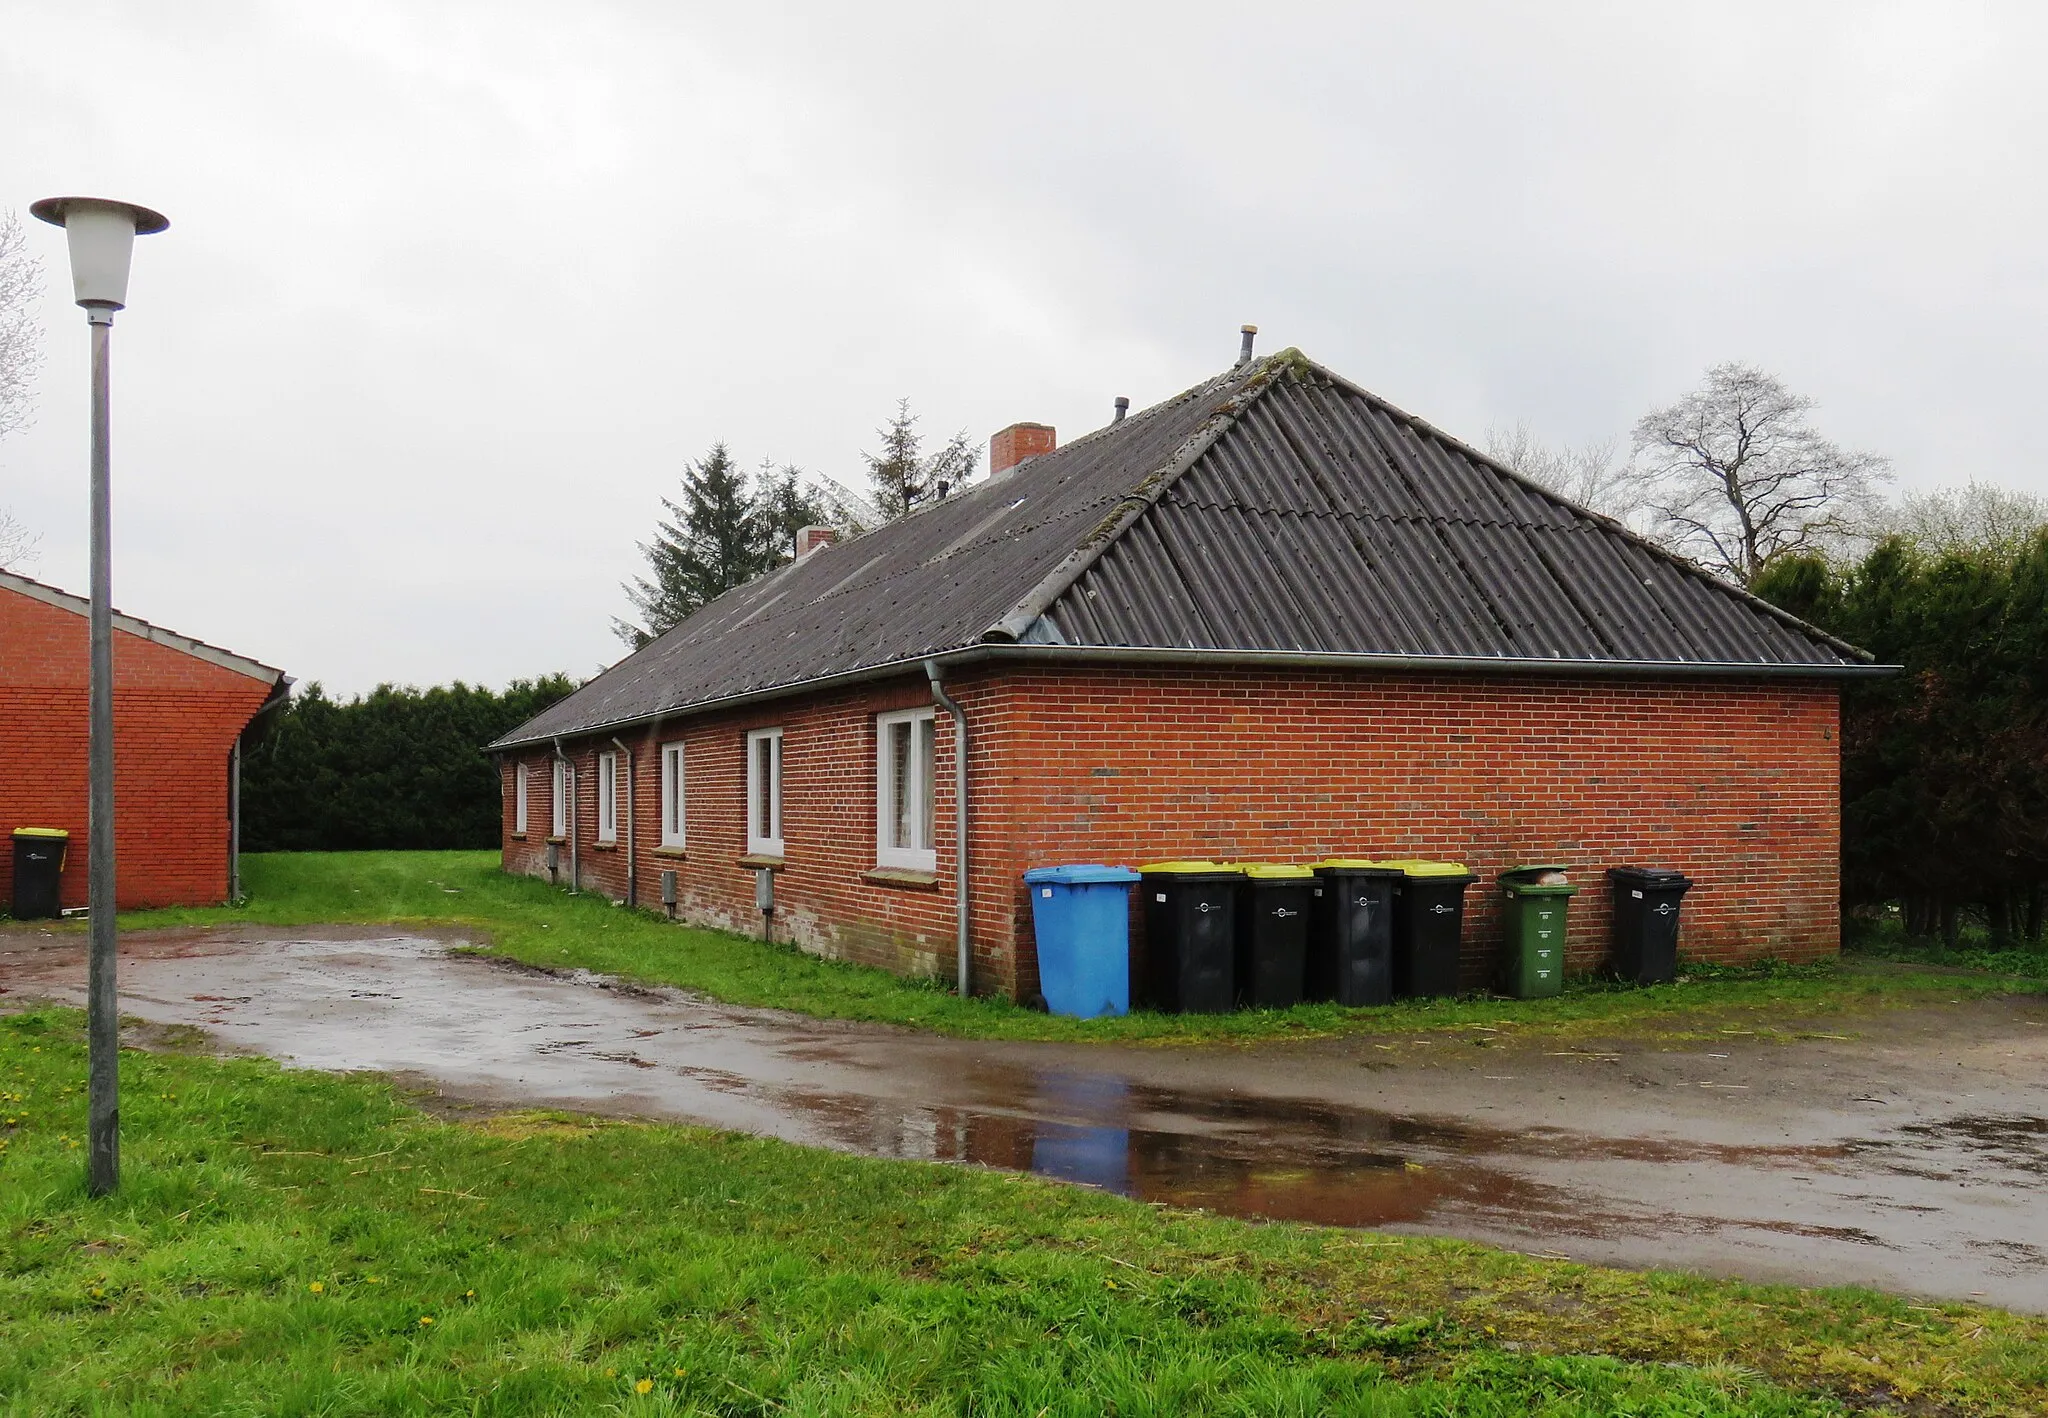
M88 613L82 596L0 572L0 910L14 828L72 834L63 906L86 904ZM115 615L115 863L123 908L221 902L233 875L233 777L281 670Z

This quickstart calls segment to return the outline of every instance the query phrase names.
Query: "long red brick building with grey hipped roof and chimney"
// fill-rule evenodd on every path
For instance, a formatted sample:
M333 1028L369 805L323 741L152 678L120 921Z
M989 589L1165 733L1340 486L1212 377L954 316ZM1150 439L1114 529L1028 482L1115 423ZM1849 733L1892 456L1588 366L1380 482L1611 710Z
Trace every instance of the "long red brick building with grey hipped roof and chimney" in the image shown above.
M1839 943L1837 684L1882 672L1298 352L741 586L494 748L504 863L821 955L1036 990L1022 873L1677 867L1683 949ZM950 701L950 703L948 703ZM958 715L954 715L954 709ZM1575 910L1575 965L1606 941ZM1143 945L1141 945L1143 949Z

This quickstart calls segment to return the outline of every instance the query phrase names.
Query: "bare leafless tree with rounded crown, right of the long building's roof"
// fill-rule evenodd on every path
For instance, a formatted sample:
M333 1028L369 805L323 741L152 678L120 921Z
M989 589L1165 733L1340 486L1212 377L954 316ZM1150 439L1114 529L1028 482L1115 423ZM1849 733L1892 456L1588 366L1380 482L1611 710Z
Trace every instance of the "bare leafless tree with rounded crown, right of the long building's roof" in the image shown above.
M1745 586L1782 555L1868 539L1886 459L1823 439L1806 418L1812 406L1774 375L1731 363L1645 414L1632 482L1651 535Z

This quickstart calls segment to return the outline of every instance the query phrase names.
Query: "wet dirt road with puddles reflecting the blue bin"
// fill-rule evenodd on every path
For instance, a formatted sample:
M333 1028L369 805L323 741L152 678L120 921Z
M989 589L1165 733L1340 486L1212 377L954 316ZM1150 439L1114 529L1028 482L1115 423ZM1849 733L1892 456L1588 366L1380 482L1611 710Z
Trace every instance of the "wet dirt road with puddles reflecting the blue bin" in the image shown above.
M1608 1047L1487 1031L1229 1049L969 1043L739 1010L373 930L123 939L123 1012L477 1107L975 1162L1145 1201L1620 1266L2048 1311L2048 1000L1855 1037ZM82 1002L0 934L0 1008Z

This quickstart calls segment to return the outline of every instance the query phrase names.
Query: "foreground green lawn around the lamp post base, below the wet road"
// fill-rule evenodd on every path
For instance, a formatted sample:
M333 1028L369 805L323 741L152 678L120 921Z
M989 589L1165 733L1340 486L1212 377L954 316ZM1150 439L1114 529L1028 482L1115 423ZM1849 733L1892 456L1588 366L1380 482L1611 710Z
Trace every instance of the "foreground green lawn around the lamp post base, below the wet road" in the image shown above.
M412 1111L0 1018L4 1414L2048 1410L2048 1322L1176 1213L684 1127ZM645 1391L639 1391L645 1385Z

